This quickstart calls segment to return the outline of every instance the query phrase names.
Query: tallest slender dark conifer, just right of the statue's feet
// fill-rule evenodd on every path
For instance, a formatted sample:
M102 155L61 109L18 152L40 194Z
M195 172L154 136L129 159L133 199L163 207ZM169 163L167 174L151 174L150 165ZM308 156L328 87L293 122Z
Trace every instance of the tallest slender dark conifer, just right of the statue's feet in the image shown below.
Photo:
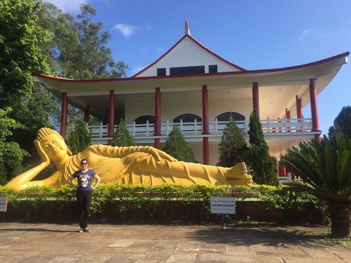
M256 110L250 115L248 151L249 166L254 182L258 184L278 185L274 159L269 155L269 147L264 139L262 126Z

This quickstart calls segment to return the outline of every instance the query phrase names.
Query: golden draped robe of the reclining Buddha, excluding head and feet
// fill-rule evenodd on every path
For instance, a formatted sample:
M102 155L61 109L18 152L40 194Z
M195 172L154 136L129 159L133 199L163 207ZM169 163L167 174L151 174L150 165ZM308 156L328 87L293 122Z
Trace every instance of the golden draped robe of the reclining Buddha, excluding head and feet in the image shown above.
M106 145L91 145L77 155L70 156L64 168L59 170L56 185L63 184L69 176L80 168L80 160L88 159L89 169L93 169L101 178L101 182L145 183L158 185L162 183L211 183L213 185L245 184L246 177L229 179L224 176L229 168L168 161L156 158L148 152L142 152L145 147L112 147ZM64 169L64 170L63 170Z

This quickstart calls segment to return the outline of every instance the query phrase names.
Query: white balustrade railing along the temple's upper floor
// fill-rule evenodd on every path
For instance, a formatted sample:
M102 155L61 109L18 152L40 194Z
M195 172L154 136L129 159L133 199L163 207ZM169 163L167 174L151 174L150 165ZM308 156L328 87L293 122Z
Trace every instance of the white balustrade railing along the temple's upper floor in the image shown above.
M312 129L312 119L302 118L300 119L267 119L260 120L262 125L262 131L264 133L288 133L288 132L309 132ZM215 121L209 122L210 134L222 134L224 128L226 127L228 121ZM242 129L246 134L249 130L249 122L245 118L244 121L237 121L237 126ZM167 122L161 123L161 136L168 136L168 134L173 129L173 126L178 126L182 131L183 135L201 135L203 131L202 122L183 122L172 123ZM114 126L116 131L118 125ZM127 125L128 130L134 138L138 137L153 137L154 136L154 124L150 124L148 121L146 124L135 124ZM108 125L98 126L87 126L87 129L91 129L93 133L93 138L105 138L108 135Z

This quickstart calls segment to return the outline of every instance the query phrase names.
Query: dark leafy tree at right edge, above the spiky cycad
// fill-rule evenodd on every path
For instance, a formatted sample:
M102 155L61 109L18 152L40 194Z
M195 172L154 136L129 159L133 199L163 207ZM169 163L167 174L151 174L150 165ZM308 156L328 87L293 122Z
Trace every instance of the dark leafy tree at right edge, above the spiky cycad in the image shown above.
M342 134L351 137L351 105L342 107L334 120L333 126L329 128L328 135L331 134L335 134L336 137L340 137Z

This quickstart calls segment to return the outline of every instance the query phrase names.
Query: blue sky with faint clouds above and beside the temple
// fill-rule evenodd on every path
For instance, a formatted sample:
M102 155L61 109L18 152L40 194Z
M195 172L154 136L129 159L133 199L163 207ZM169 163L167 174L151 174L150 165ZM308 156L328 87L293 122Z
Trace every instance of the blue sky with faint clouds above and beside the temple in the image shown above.
M224 59L245 69L269 69L314 62L351 51L351 1L159 1L50 0L76 16L91 4L112 38L116 61L133 75L184 35L191 35ZM351 65L342 66L318 95L319 123L326 133L342 106L351 105ZM304 116L310 117L309 105Z

